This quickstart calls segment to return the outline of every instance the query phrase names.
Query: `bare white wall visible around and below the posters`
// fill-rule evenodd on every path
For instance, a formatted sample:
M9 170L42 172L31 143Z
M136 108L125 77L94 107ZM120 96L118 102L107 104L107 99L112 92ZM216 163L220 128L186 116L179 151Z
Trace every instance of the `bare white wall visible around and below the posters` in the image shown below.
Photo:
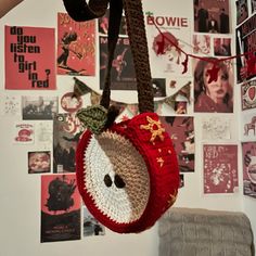
M75 0L74 0L75 1ZM167 1L167 0L165 0ZM155 1L145 1L149 10L154 10ZM164 2L164 0L163 0ZM162 4L170 9L183 8L192 10L192 3L188 0L169 0L168 4ZM192 1L191 1L192 2ZM179 5L180 4L180 5ZM188 4L191 4L190 7ZM0 20L0 55L1 66L4 67L4 25L38 26L56 28L56 12L64 12L62 1L51 0L25 0L9 14ZM233 12L234 14L234 12ZM190 18L192 18L191 13ZM99 85L98 77L86 77L87 84ZM42 95L62 95L73 87L72 77L57 77L57 91L40 91ZM31 94L30 91L5 91L4 68L0 71L0 97L10 93L11 95ZM135 97L135 94L132 94ZM236 99L239 99L236 91ZM117 93L114 98L119 99ZM123 98L129 100L129 97ZM239 106L235 106L239 107ZM238 108L236 108L238 110ZM236 113L236 110L234 113ZM123 256L156 256L158 238L157 225L141 234L116 234L106 231L104 236L92 236L80 241L40 243L40 177L27 174L27 146L13 145L12 126L16 117L0 116L0 256L36 255L36 256L69 256L69 255L123 255ZM233 121L236 116L232 115ZM180 190L176 206L204 207L209 209L245 210L251 217L255 233L256 210L255 201L244 199L242 189L233 195L203 195L202 185L202 142L201 142L201 116L195 115L196 135L196 166L194 174L185 174L185 188ZM232 143L239 143L238 126L232 126ZM240 161L241 162L241 161ZM240 163L241 166L241 163ZM240 171L240 185L241 171ZM242 188L242 187L240 187Z

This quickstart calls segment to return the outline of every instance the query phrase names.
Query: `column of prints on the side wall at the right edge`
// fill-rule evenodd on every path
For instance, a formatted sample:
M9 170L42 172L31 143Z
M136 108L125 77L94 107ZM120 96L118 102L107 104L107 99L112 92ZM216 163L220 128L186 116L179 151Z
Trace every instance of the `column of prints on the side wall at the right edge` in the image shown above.
M238 82L241 82L243 193L256 197L256 1L236 1ZM244 55L243 55L244 54Z

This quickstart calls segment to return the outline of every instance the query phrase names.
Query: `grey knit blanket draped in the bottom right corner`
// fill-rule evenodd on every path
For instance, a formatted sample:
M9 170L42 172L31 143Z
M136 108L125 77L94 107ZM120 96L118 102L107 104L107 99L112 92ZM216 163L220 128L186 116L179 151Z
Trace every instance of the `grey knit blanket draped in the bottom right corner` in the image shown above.
M243 213L171 208L158 221L158 256L255 256Z

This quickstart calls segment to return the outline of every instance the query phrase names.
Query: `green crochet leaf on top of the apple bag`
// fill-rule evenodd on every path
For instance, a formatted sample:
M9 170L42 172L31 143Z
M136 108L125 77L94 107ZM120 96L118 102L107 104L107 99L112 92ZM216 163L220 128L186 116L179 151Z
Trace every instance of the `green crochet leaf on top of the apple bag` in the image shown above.
M92 105L81 108L76 115L81 124L95 135L102 132L107 120L107 110L101 105Z

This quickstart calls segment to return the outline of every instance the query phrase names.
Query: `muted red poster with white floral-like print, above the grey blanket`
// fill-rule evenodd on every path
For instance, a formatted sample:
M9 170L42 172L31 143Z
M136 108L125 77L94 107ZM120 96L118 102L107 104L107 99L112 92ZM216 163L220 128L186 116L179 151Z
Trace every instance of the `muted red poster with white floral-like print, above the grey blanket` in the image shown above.
M204 193L233 193L238 185L238 145L204 145Z

